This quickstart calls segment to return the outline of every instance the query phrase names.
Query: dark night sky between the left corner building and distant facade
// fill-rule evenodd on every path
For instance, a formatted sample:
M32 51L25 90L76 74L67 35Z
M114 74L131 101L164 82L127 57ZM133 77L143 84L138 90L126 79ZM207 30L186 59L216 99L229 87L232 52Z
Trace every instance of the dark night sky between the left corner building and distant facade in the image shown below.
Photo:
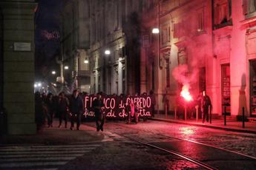
M59 14L63 0L39 0L35 13L36 23L36 77L45 77L56 67L59 53Z

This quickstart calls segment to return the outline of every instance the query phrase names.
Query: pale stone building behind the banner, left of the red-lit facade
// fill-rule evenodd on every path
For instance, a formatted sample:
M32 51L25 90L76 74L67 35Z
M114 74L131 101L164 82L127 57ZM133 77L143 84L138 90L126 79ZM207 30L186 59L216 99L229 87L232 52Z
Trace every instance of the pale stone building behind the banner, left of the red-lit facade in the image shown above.
M140 92L141 12L141 0L91 1L91 93Z

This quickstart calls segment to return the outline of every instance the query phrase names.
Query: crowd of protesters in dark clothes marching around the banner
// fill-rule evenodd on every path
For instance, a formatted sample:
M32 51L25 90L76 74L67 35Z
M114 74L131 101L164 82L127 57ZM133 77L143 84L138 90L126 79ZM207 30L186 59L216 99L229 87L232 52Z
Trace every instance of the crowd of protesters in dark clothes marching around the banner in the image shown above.
M36 125L38 129L41 129L43 125L47 123L47 126L53 127L53 118L59 118L59 128L62 127L62 121L64 121L65 128L68 128L68 120L70 120L70 129L74 129L74 123L76 122L76 129L79 130L81 124L82 115L85 112L85 105L83 103L83 98L88 95L86 92L80 92L74 90L72 95L66 95L65 92L60 92L59 95L53 95L52 93L40 94L40 92L35 93L35 112L36 112ZM141 96L147 95L145 92ZM154 116L154 92L151 91L149 94L152 98L152 116ZM93 95L95 96L95 95ZM107 96L103 92L96 94L97 98L93 101L93 112L95 114L94 120L96 121L96 130L103 131L103 124L105 121L105 115L103 114L104 104L102 101L102 96ZM108 95L114 97L117 95ZM137 97L135 94L133 97ZM120 94L119 98L131 98L131 95ZM126 123L138 123L139 121L139 103L133 100L125 103L125 113ZM147 120L143 117L143 120Z

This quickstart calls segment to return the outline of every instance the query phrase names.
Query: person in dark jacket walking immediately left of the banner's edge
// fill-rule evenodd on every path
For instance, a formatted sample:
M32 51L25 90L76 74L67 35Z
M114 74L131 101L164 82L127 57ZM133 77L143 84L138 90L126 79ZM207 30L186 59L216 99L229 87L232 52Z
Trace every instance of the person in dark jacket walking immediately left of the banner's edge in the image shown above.
M74 120L76 120L76 130L79 130L81 123L81 115L84 112L84 103L82 98L79 96L77 89L73 90L73 95L70 98L70 129L73 130Z

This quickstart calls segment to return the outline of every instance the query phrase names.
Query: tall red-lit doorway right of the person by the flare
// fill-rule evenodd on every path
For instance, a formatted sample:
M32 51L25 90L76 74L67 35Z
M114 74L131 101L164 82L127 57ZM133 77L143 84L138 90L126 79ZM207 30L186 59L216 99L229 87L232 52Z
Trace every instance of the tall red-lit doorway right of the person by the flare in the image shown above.
M226 115L231 115L230 110L230 67L229 64L221 65L221 91L222 91L222 114L226 108Z

